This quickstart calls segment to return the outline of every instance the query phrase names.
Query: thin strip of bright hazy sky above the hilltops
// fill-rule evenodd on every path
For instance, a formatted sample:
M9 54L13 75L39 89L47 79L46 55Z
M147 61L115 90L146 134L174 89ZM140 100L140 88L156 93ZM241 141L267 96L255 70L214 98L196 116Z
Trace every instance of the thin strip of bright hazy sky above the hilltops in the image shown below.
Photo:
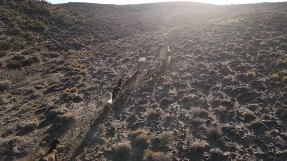
M89 3L103 3L103 4L139 4L139 3L153 3L163 1L195 1L195 2L224 5L224 4L278 2L286 0L48 0L48 1L51 3L89 2Z

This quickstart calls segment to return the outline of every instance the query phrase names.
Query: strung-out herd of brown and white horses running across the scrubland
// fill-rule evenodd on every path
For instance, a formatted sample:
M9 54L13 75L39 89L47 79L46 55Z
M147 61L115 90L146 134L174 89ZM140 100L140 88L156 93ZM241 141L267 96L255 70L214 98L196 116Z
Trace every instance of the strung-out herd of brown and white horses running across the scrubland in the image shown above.
M161 49L163 48L163 42L164 42L164 38L161 39L161 43L159 46ZM169 46L166 46L166 48L167 50L165 52L165 55L168 58L171 52L170 52ZM139 53L140 53L141 59L150 55L150 53L148 52L148 48L146 48L145 51L143 52L143 48L140 47ZM161 63L158 63L156 66L149 68L147 70L145 77L148 77L148 79L150 79L151 77L155 77L155 76L159 77L160 67L161 67ZM135 85L138 74L141 74L139 70L137 70L133 75L129 76L125 82L124 82L124 79L122 78L119 79L117 85L113 87L112 93L108 92L108 99L103 103L103 110L108 110L108 112L111 111L113 99L117 97L119 92L122 94L122 83L124 82L125 86L127 87L131 85ZM56 146L60 143L61 141L58 138L55 138L54 141L51 143L51 147L48 150L48 152L42 158L40 158L39 161L56 161L57 160Z

